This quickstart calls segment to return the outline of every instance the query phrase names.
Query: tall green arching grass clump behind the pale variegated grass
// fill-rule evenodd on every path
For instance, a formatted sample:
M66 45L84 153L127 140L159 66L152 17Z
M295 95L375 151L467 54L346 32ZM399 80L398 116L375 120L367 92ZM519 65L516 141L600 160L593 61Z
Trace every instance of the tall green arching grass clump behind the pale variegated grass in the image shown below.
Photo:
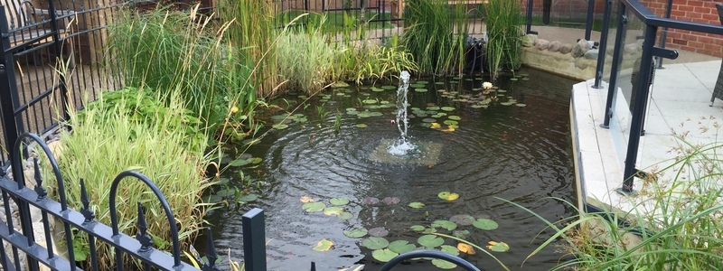
M170 93L179 91L183 105L209 125L221 123L235 92L225 85L230 69L223 64L221 38L207 27L210 18L159 8L138 14L123 11L108 27L108 46L116 76L126 86L147 87L167 105ZM222 30L221 30L222 31ZM246 81L247 74L239 74ZM251 101L250 103L253 103Z

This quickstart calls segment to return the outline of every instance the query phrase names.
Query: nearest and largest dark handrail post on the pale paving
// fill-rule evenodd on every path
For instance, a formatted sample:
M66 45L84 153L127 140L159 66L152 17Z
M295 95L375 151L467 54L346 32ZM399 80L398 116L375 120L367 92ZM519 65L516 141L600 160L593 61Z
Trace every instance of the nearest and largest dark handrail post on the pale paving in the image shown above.
M623 187L618 192L624 194L632 194L633 182L637 169L635 162L638 157L638 147L640 145L640 132L643 131L643 118L645 117L645 104L647 103L648 93L650 92L647 82L650 80L653 64L653 45L655 43L656 32L658 27L655 25L645 25L645 40L643 40L643 56L641 56L640 78L635 90L635 104L633 106L633 117L630 124L630 132L628 135L627 154L625 155L625 169L623 174Z

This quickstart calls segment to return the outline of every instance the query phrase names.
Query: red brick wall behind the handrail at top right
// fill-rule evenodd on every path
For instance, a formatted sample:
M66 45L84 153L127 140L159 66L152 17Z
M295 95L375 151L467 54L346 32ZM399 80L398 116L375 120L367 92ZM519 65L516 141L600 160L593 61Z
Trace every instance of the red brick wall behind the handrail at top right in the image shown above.
M641 0L641 3L654 14L665 17L667 0ZM716 2L711 0L673 0L671 19L720 25ZM665 47L723 57L723 37L715 34L671 29Z

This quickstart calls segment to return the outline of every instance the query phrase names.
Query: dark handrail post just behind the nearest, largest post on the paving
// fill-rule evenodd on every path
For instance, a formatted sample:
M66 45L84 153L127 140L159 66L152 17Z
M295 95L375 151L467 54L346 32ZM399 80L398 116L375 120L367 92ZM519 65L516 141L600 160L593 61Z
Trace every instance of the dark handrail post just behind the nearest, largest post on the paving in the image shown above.
M605 105L605 120L600 125L603 128L610 127L610 118L613 117L613 98L617 93L617 78L620 75L620 63L623 61L623 42L625 41L625 28L627 27L627 15L625 5L617 7L617 30L615 31L615 51L613 51L613 62L610 70L610 82L607 84L607 100Z

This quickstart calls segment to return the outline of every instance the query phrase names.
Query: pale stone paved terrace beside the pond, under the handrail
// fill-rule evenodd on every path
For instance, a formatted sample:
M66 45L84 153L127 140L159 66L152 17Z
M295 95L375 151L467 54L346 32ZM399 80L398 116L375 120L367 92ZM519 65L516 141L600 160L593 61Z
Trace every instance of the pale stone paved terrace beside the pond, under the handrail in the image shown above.
M664 62L665 63L665 62ZM717 99L709 107L713 86L718 78L720 60L664 64L656 70L648 112L645 135L641 137L637 168L655 171L672 164L680 154L681 146L706 145L723 141L718 139L723 125L723 101ZM621 82L627 79L619 79ZM630 127L627 107L630 84L621 84L616 96L622 107L615 109L609 129L600 127L604 121L607 89L593 89L592 80L578 83L573 88L570 108L578 191L587 202L605 203L621 210L631 210L629 199L615 192L623 182L624 156ZM624 103L624 104L623 104ZM681 139L681 137L683 139ZM659 182L671 180L663 175ZM640 191L642 182L635 179L634 190ZM594 204L596 205L596 204ZM600 206L602 207L602 206Z

